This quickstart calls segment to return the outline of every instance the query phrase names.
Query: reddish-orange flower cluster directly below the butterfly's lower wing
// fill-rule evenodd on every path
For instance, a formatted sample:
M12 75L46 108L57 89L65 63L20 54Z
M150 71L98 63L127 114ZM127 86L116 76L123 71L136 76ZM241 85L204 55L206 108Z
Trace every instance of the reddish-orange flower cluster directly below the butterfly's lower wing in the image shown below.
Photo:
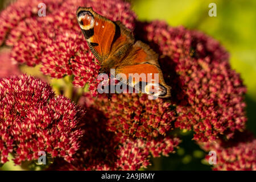
M135 138L151 139L166 135L175 121L176 113L169 102L162 99L148 100L143 94L112 94L111 100L105 94L99 94L89 101L86 94L85 104L102 111L108 118L106 129ZM173 127L173 126L172 126Z

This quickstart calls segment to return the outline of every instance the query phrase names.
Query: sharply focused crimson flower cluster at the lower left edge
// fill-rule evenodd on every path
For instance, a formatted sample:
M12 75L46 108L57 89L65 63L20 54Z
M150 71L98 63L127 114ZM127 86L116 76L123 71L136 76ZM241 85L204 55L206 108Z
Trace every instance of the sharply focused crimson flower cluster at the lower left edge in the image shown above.
M38 159L38 152L68 162L79 148L83 131L77 126L83 111L51 86L21 75L0 79L0 159L14 162Z

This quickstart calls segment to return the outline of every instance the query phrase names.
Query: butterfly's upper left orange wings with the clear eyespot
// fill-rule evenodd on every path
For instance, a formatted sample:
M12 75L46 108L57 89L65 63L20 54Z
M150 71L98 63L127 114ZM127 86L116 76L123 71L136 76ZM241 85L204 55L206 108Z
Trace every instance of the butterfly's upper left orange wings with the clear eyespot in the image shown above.
M120 61L133 45L133 35L122 23L106 19L92 7L79 7L76 14L90 50L102 65Z

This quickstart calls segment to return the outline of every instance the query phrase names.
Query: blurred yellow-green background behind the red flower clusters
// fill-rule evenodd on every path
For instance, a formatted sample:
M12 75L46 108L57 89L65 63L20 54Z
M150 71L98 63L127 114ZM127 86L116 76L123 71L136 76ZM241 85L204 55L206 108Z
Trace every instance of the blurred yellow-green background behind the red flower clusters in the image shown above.
M10 1L10 0L9 0ZM230 64L241 73L247 86L247 129L256 135L256 1L255 0L127 0L139 20L166 20L171 26L196 29L217 39L230 53ZM43 2L43 1L42 1ZM210 17L209 3L216 3L217 16ZM4 0L0 0L2 9ZM191 131L180 131L183 139L176 154L153 159L148 169L209 170L205 152L191 139Z

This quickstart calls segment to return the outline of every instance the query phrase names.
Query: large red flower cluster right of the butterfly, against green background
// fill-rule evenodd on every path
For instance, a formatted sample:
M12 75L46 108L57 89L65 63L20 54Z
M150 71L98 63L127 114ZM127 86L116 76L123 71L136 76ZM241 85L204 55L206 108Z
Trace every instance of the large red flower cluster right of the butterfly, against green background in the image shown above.
M176 105L175 127L193 129L194 139L202 142L219 135L231 138L245 128L246 88L216 40L164 22L137 28L138 36L162 55L160 66Z

